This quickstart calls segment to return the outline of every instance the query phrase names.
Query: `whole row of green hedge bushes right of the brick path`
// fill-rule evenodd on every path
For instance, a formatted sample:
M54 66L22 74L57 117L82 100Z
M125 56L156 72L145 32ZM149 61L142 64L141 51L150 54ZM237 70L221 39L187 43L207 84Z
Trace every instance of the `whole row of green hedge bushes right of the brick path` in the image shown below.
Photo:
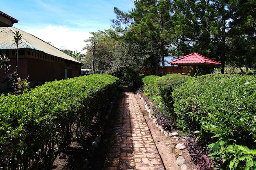
M160 125L168 128L177 117L178 128L198 134L195 143L208 146L211 153L200 158L204 169L256 169L255 76L147 76L143 82L161 108L155 113Z

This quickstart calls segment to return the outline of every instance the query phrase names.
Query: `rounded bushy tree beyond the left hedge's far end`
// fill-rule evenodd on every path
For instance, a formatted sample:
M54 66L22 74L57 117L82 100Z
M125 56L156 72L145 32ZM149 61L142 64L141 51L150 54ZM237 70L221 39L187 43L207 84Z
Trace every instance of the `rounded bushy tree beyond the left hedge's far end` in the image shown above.
M91 33L93 37L85 42L89 42L83 49L88 49L86 58L92 59L92 46L95 44L95 68L111 75L121 75L127 68L141 68L145 60L141 55L144 51L137 44L126 43L121 39L119 32L112 29ZM138 57L139 56L139 57ZM87 60L87 59L86 59Z

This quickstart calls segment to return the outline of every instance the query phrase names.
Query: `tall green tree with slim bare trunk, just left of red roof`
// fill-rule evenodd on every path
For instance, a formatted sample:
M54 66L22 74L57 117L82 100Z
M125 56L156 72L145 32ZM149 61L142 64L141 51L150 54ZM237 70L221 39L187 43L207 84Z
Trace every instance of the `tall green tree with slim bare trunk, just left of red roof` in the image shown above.
M135 23L127 34L136 36L157 49L162 63L162 75L165 75L164 55L167 48L175 39L171 30L171 1L170 0L136 0L135 9L131 12ZM130 36L128 35L128 36Z

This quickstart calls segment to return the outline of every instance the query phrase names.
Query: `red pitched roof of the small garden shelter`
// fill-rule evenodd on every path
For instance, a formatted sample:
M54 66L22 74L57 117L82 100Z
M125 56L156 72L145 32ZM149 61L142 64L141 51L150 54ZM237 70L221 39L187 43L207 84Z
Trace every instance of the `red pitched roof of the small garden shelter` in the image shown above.
M204 57L198 53L191 53L184 57L178 58L172 62L169 62L172 65L180 65L180 66L215 66L221 63L216 62L210 58Z

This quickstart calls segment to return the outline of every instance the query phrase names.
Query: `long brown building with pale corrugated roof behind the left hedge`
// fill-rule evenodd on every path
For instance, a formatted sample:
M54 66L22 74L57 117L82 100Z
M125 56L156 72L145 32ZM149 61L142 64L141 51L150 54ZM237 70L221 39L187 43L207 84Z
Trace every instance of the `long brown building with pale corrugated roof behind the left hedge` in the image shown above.
M19 31L18 76L28 78L31 86L47 81L81 75L81 62L54 46L15 27L0 27L0 55L10 59L11 70L16 71L17 46L13 36ZM7 74L0 69L0 82Z

